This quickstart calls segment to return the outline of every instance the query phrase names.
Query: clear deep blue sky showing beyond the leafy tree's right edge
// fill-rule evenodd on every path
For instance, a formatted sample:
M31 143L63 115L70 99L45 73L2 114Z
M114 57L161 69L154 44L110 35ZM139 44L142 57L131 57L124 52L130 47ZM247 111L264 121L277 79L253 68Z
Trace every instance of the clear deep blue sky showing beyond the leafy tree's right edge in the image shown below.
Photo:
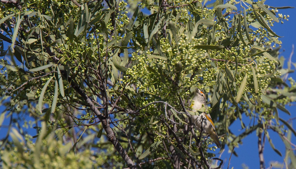
M266 0L265 4L268 4L270 6L296 6L295 0ZM286 59L289 58L290 53L292 51L292 44L295 45L296 48L296 33L295 33L295 27L296 27L296 9L279 9L279 13L282 13L283 15L289 15L289 21L284 21L284 24L281 23L275 23L274 27L272 27L272 30L276 32L280 36L284 36L283 38L280 38L282 41L282 49L280 50L280 56L284 56ZM296 49L295 49L296 53ZM296 63L295 54L292 56L292 62ZM284 65L284 67L287 67L287 64ZM294 68L294 67L292 67ZM295 68L294 68L295 69ZM290 74L293 79L296 79L296 73ZM291 112L292 116L287 116L286 113L279 112L279 116L284 119L289 119L292 117L295 117L295 106L288 107L289 111ZM245 116L244 116L245 117ZM4 122L5 124L5 122ZM296 122L294 121L293 124L294 128L296 128ZM235 122L231 127L231 131L235 132L235 134L239 134L242 131L240 122ZM5 128L0 129L1 133L6 133ZM34 130L35 132L35 130ZM237 132L237 133L236 133ZM1 137L0 137L1 138ZM285 147L279 136L275 133L271 132L271 139L277 149L281 151L281 153L285 154ZM248 166L249 168L259 168L259 157L258 157L258 137L256 137L256 132L253 132L248 137L246 137L243 140L243 144L239 145L239 147L235 148L235 151L239 155L238 157L232 155L229 168L234 167L234 169L237 168L243 168L243 165ZM296 143L296 138L292 138L292 142ZM216 152L217 153L217 152ZM219 157L221 155L221 159L224 160L223 168L227 168L230 152L228 151L227 147L226 150L223 153L217 153L216 156ZM278 161L280 163L283 162L284 157L280 157L277 153L272 150L271 146L266 141L266 146L264 150L264 157L266 161L266 168L270 166L271 161ZM275 168L275 167L273 167Z

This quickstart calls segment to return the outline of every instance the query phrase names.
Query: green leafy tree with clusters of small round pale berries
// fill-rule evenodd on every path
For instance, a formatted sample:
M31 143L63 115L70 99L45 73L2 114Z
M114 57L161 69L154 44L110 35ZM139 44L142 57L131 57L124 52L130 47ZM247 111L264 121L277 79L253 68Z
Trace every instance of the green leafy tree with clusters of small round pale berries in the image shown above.
M211 168L217 147L188 120L197 87L223 148L237 155L256 131L282 155L274 131L295 167L296 132L281 113L296 85L271 29L289 16L264 0L136 3L1 1L0 165Z

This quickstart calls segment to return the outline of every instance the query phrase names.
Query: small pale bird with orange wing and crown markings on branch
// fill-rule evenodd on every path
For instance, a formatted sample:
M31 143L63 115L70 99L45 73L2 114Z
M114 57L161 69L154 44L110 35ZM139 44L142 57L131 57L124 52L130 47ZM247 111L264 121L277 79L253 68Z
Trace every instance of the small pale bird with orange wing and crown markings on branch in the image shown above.
M197 110L202 108L202 104L203 105L206 104L205 93L202 92L200 89L196 88L191 101L190 108L192 109L193 112L196 112ZM202 132L209 134L210 137L214 140L218 148L222 147L210 114L206 114L205 112L202 112L199 115L192 115L191 121L194 127L198 131L201 131L202 129Z

